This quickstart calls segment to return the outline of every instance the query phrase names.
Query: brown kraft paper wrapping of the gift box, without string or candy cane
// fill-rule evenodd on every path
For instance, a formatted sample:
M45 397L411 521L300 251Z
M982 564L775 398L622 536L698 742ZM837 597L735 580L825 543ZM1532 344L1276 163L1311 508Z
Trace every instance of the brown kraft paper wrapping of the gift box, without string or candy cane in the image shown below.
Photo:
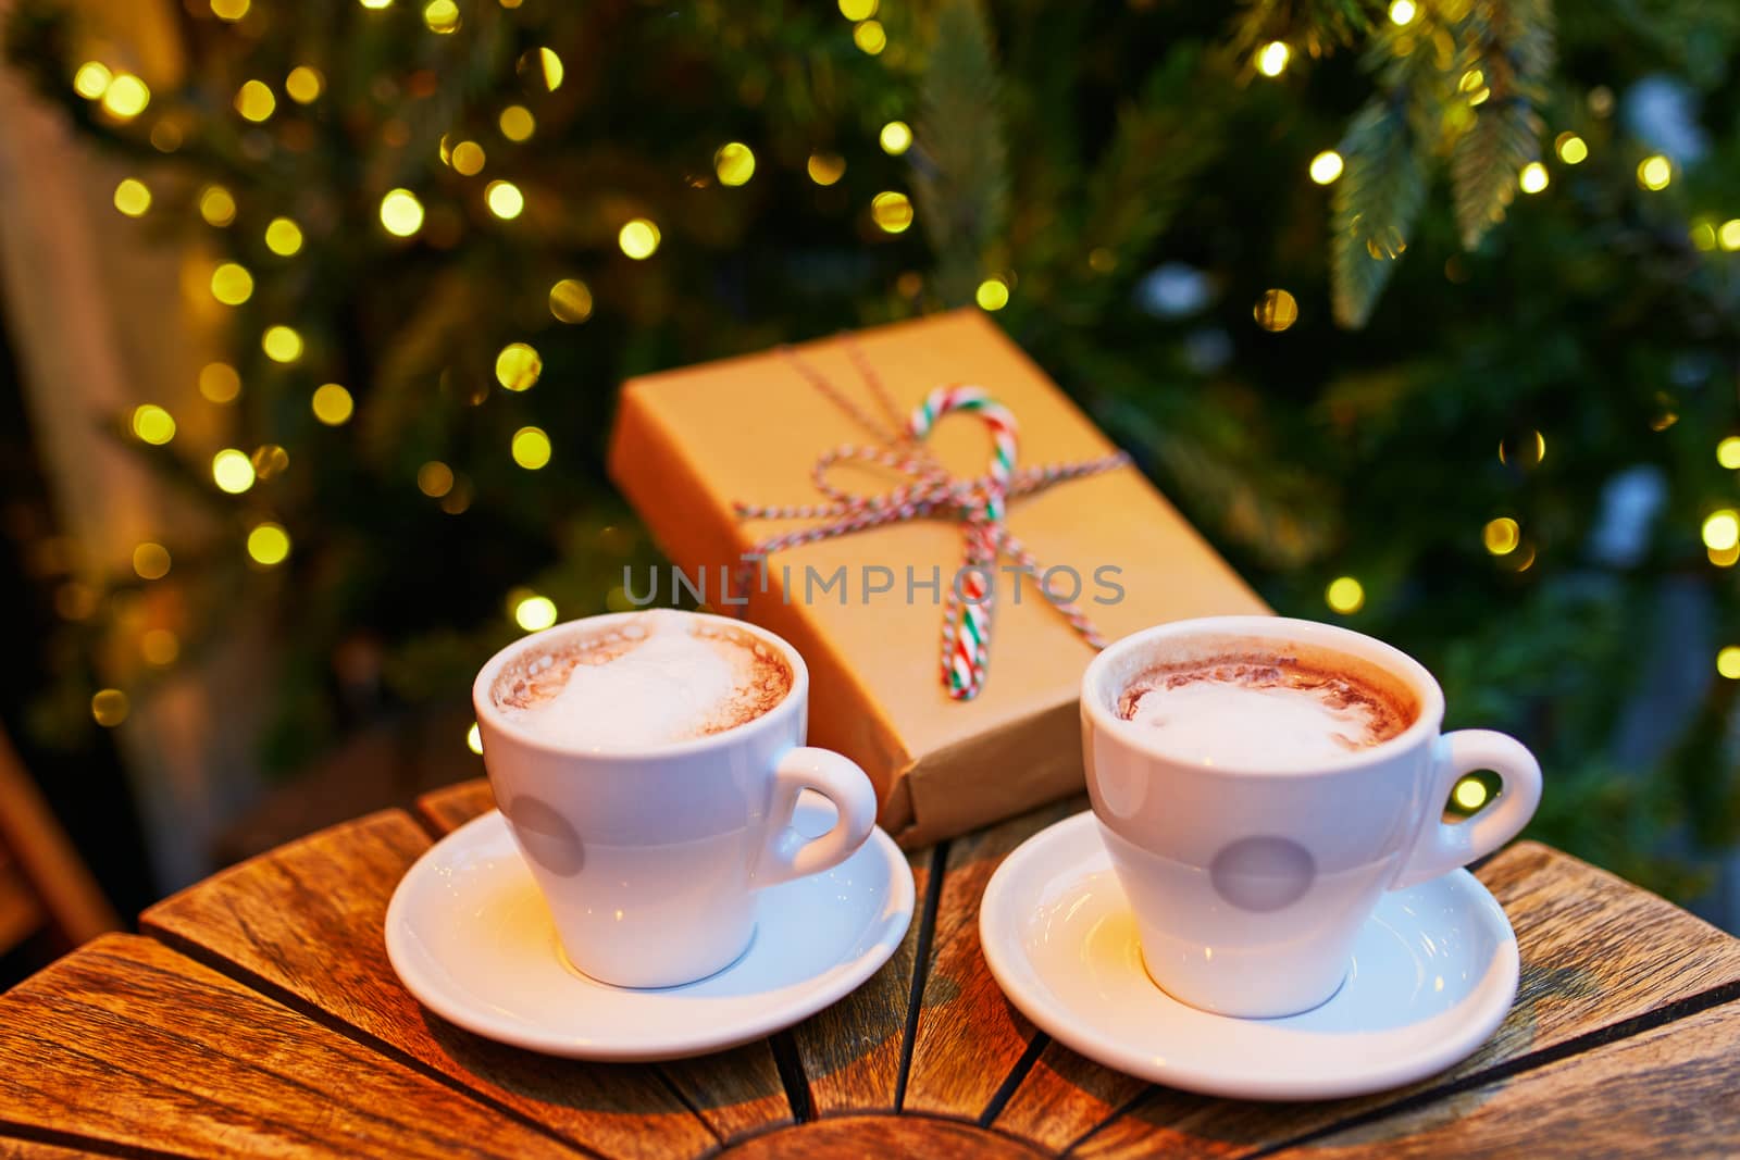
M976 383L1020 421L1020 464L1068 463L1112 450L1107 438L980 311L865 330L851 339L901 410L945 383ZM837 388L879 416L846 343L797 348ZM743 553L804 522L740 522L733 503L823 503L811 482L816 457L842 443L870 443L833 402L778 353L750 355L633 379L623 386L611 440L611 475L670 560L703 600L746 614L802 654L811 671L811 744L846 753L875 781L882 826L919 845L983 826L1079 791L1077 696L1093 649L1039 590L999 572L990 668L974 701L952 701L938 675L943 597L962 565L962 529L926 518L804 544L767 562L766 591L752 584L745 609L726 609L722 583ZM973 416L947 416L929 443L959 477L981 475L990 437ZM880 468L840 464L830 477L853 492L905 482ZM1009 527L1042 567L1082 577L1081 607L1115 640L1192 616L1268 609L1134 468L1056 483L1014 499ZM1002 563L1013 563L1004 560ZM806 569L807 565L807 569ZM821 581L846 569L846 586ZM865 593L865 567L894 574L887 593ZM917 581L908 588L907 569ZM1115 603L1096 569L1122 586ZM785 584L790 569L790 590ZM807 584L806 576L814 576ZM886 576L870 576L873 584ZM633 577L646 597L651 577ZM1054 583L1061 588L1065 576ZM910 602L908 602L910 597ZM842 600L844 598L844 600ZM672 603L672 576L658 576L656 603Z

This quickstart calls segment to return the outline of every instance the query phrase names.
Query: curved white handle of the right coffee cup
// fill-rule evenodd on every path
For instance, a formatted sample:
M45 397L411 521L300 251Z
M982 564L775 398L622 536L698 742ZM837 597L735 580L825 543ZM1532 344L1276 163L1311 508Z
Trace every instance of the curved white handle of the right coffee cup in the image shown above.
M1392 890L1437 878L1491 854L1517 837L1540 805L1540 762L1516 737L1491 729L1460 729L1437 739L1432 763L1427 805L1434 816L1427 819L1413 852L1390 883ZM1439 821L1436 810L1442 810L1456 781L1477 769L1498 774L1503 781L1498 797L1467 821Z

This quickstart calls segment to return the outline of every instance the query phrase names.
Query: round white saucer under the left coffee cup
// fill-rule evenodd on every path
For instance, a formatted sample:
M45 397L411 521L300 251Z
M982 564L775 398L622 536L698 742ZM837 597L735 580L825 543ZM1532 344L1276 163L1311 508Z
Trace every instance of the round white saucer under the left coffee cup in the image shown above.
M833 807L813 797L797 809L809 837L833 824ZM405 873L386 910L386 953L412 995L468 1031L574 1059L679 1059L837 1002L894 953L912 904L907 857L875 830L833 870L764 890L750 948L719 974L607 986L566 965L543 896L491 810Z

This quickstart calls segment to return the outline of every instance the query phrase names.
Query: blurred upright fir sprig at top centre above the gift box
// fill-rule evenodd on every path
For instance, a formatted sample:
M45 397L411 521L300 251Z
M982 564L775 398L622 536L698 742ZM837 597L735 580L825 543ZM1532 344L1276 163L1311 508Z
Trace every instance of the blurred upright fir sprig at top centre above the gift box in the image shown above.
M1002 82L976 0L948 0L936 16L922 108L914 191L936 254L938 292L957 306L973 301L1009 210Z

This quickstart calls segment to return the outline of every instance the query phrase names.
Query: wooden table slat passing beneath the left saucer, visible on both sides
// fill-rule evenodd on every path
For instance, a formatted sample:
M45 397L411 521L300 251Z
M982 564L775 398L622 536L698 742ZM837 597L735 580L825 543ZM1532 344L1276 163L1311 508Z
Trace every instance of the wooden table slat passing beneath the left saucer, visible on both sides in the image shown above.
M496 798L484 779L463 781L418 798L418 812L437 833L458 830L492 809ZM792 1123L792 1103L766 1042L699 1059L679 1059L659 1068L722 1141Z

